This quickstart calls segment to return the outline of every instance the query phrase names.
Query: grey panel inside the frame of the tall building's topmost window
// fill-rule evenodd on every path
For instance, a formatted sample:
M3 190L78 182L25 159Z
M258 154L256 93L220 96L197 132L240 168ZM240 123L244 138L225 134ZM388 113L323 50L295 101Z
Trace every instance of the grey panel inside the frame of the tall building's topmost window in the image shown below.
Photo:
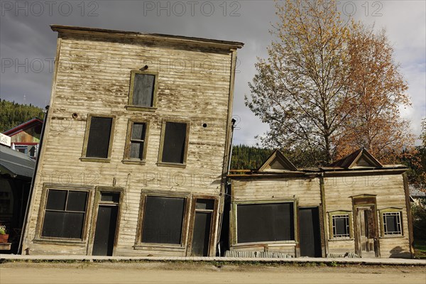
M132 104L136 107L153 107L155 75L134 74Z

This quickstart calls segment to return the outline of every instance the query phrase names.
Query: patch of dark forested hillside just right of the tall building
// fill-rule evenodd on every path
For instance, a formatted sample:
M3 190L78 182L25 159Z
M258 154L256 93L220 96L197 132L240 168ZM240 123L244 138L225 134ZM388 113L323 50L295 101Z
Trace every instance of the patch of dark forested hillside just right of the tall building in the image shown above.
M251 170L259 168L273 150L246 145L232 148L231 170Z

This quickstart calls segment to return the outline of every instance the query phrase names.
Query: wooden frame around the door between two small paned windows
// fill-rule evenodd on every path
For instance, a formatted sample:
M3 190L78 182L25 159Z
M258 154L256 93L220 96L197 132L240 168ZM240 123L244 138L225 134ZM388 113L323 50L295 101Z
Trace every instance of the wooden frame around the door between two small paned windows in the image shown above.
M374 231L374 254L376 257L380 257L380 241L378 237L378 211L376 203L376 195L356 195L352 198L352 207L353 207L353 218L354 218L354 242L355 242L355 253L362 257L361 252L361 238L358 226L358 209L360 207L370 207L373 214L373 231Z

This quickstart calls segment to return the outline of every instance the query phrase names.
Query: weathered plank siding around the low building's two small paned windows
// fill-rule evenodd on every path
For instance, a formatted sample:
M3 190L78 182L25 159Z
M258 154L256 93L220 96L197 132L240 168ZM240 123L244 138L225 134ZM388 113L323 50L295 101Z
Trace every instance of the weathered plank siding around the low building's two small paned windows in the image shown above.
M408 231L407 207L402 175L354 175L324 178L324 197L328 212L352 211L352 196L376 195L378 235L381 257L410 257L410 240ZM402 212L403 236L381 236L381 209L400 208ZM354 218L353 218L354 219ZM329 214L326 228L329 229ZM351 226L354 230L354 226ZM330 232L327 231L328 238ZM355 232L352 231L352 236ZM354 251L354 239L330 240L329 253L346 253Z

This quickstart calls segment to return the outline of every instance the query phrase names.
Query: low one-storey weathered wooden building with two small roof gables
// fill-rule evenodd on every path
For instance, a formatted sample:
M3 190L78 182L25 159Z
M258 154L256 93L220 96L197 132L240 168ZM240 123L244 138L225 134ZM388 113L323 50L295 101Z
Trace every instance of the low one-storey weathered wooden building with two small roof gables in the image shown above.
M310 169L275 151L258 170L229 175L226 255L413 257L406 170L365 149Z

